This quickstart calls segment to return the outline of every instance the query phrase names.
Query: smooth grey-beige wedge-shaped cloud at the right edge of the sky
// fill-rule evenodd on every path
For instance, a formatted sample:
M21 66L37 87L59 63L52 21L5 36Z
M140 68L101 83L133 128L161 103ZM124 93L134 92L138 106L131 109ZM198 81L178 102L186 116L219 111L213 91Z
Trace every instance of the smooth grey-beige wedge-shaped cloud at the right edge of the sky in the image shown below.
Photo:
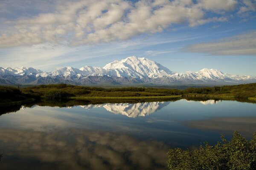
M216 42L191 45L185 50L210 55L255 55L256 31L221 39Z

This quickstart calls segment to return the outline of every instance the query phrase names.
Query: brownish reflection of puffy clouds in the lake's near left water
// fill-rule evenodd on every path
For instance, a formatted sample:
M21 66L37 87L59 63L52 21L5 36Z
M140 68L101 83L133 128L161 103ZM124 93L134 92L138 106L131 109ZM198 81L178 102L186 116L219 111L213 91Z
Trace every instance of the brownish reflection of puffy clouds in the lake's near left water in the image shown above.
M97 130L0 130L0 169L160 170L168 147L162 142Z

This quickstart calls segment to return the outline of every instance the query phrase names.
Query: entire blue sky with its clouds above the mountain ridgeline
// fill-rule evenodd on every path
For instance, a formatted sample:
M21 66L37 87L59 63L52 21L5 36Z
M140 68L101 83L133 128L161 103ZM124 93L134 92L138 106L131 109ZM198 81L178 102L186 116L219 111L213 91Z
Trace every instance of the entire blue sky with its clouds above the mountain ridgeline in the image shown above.
M129 56L178 73L256 76L256 0L0 0L0 67L103 67Z

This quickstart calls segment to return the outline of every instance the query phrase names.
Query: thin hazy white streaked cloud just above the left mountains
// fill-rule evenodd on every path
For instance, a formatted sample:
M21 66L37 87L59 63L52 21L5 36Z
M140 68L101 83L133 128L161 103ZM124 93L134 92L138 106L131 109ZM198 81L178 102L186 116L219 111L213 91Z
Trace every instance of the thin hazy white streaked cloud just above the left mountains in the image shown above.
M92 58L95 58L93 64L95 62L102 62L103 66L103 64L105 65L108 62L112 62L113 59L111 59L111 57L113 56L138 55L134 54L134 51L140 48L148 48L152 45L183 42L193 39L195 39L195 37L184 36L169 40L166 37L157 36L157 40L155 40L154 37L134 38L123 42L111 42L99 45L79 45L76 47L44 43L29 47L4 48L0 51L0 66L4 68L26 66L38 68L43 71L52 71L56 69L56 67L72 66L81 68L84 65L91 65L92 62L88 63L88 59ZM105 59L103 59L103 57L105 57ZM98 64L96 64L96 66L98 66Z

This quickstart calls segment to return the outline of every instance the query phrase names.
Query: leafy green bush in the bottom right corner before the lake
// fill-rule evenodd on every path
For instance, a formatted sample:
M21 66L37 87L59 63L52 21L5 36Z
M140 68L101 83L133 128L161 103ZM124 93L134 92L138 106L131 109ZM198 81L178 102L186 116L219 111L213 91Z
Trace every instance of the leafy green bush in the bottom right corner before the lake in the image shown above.
M206 142L192 151L171 149L167 164L170 170L255 170L256 132L250 142L235 131L230 142L222 136L215 147Z

